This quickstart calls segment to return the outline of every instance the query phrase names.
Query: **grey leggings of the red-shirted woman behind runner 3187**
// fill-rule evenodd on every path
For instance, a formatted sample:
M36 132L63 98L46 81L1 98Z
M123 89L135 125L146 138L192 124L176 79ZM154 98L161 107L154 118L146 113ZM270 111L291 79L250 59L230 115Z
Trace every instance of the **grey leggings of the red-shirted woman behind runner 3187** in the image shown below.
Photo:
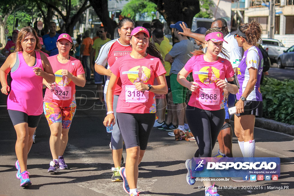
M106 97L106 94L104 94L104 97ZM113 96L113 112L114 112L115 118L116 118L117 101L118 101L118 95L114 95ZM105 106L107 109L106 101L105 101ZM122 148L123 148L123 137L121 136L121 131L119 130L118 123L116 122L113 126L113 130L111 133L111 149L119 150Z

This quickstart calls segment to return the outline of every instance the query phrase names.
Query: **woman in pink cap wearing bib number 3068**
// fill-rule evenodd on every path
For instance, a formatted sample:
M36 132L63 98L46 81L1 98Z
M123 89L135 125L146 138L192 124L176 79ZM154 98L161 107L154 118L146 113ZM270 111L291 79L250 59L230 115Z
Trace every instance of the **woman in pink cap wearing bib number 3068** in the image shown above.
M225 122L223 89L233 94L238 92L238 86L225 81L234 81L234 70L230 61L218 57L219 53L226 56L222 50L223 41L223 33L219 29L208 29L205 34L207 52L204 54L201 50L194 51L193 57L178 73L178 82L192 91L186 116L198 144L198 150L194 155L198 160L201 157L211 157L218 133ZM191 72L193 82L186 79ZM189 185L194 185L196 180L192 176L191 163L191 159L186 160L186 180ZM200 163L196 162L201 165ZM211 181L204 179L203 183L206 187L205 195L218 196Z

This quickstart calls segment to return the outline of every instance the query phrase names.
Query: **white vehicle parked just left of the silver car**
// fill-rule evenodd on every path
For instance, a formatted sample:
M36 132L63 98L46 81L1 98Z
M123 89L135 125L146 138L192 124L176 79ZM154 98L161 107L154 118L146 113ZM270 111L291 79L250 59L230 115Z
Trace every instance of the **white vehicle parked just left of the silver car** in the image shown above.
M260 44L268 52L270 59L274 60L277 60L277 57L288 49L277 39L262 38Z

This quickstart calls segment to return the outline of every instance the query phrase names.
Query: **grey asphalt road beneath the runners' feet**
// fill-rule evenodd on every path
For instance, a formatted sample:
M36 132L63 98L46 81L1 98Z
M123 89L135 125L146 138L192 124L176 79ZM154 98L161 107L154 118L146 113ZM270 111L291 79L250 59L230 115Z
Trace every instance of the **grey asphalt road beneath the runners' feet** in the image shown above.
M112 158L109 149L110 134L102 121L106 115L103 106L94 106L94 85L77 91L78 109L74 116L69 143L64 153L69 170L47 173L51 153L50 131L42 116L28 159L32 185L19 186L14 166L16 133L6 110L0 107L0 195L127 195L121 182L111 182ZM255 128L255 157L280 157L281 176L278 181L236 183L217 181L220 195L292 195L294 190L294 137ZM139 167L140 195L204 195L202 182L190 186L186 182L185 160L197 150L195 142L175 141L166 131L153 128L148 148ZM213 152L218 150L218 143ZM237 138L233 137L233 155L242 157ZM125 150L123 156L126 157ZM235 190L224 190L225 187ZM289 186L289 189L277 190ZM261 189L262 188L262 189ZM271 189L274 188L274 189Z

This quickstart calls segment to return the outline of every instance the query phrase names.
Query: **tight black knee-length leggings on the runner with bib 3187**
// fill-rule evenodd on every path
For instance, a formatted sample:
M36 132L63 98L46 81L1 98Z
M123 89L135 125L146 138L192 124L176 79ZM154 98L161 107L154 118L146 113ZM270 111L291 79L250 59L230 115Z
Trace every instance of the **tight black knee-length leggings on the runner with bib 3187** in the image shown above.
M155 113L116 113L116 122L126 149L140 146L140 150L146 150L155 117Z

